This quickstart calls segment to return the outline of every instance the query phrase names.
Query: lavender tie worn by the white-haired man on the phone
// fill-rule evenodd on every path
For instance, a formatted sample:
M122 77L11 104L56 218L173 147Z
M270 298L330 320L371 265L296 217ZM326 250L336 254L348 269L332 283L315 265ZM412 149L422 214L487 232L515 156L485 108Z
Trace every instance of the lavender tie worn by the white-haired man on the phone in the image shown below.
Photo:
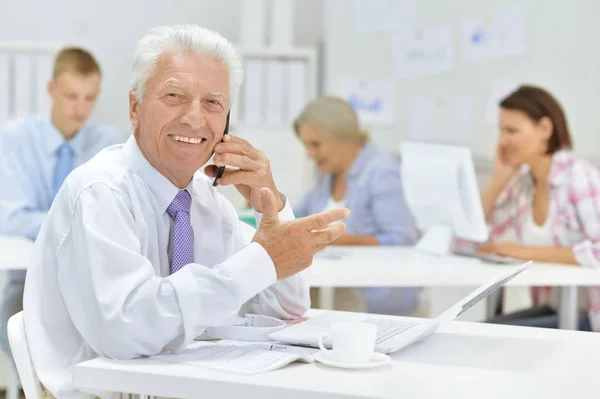
M179 190L167 212L173 218L173 257L171 273L175 273L188 263L194 263L194 230L190 223L192 197L187 190Z

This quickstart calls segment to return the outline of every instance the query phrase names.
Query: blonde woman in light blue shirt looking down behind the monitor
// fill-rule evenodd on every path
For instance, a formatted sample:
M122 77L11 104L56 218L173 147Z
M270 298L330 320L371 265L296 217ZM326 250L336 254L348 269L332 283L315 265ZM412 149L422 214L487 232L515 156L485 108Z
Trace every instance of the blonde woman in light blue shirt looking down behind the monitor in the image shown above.
M320 171L314 187L294 208L296 216L350 209L346 233L334 245L415 243L400 165L369 141L346 101L330 96L311 101L294 121L294 130ZM360 293L370 313L407 315L418 305L417 288L361 288Z

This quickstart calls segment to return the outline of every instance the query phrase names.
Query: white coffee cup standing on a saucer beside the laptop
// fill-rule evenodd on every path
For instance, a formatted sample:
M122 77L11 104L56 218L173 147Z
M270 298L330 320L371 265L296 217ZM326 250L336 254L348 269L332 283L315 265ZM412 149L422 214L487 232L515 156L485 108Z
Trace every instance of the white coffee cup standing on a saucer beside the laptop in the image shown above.
M333 349L323 345L325 338L331 337ZM373 357L377 326L367 323L335 323L331 333L319 337L319 348L330 358L343 363L366 363Z

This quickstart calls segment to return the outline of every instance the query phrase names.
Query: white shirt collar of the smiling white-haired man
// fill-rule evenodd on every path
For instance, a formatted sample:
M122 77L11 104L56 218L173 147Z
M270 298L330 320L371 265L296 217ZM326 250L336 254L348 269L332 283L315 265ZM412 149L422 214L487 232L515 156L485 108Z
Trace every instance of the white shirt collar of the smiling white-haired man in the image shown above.
M179 192L179 188L152 166L144 154L142 154L137 140L133 135L129 137L123 146L123 151L128 161L127 164L130 165L133 172L140 176L148 187L150 187L150 191L152 191L158 200L160 211L162 213L166 212L167 208ZM193 183L194 179L192 179L186 187L186 190L188 190L190 195L192 195Z

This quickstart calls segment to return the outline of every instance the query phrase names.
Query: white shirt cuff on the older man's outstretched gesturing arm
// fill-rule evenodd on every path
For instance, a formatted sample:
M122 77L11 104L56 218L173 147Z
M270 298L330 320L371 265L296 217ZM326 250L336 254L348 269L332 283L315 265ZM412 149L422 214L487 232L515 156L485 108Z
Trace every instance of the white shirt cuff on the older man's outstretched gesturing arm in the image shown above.
M277 273L271 257L256 242L223 262L220 272L232 278L242 303L277 282Z

